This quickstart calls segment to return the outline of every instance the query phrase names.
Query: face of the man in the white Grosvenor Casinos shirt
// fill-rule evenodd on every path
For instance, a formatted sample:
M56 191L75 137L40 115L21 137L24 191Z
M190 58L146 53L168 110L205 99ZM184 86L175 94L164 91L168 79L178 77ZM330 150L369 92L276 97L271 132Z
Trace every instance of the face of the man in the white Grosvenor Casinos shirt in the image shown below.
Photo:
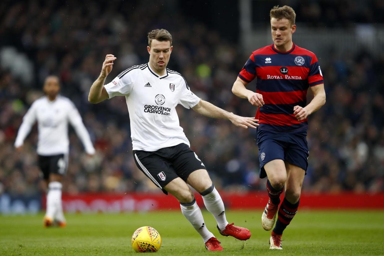
M157 41L153 39L151 47L147 46L151 66L158 71L164 70L167 67L172 49L173 46L170 45L169 41Z

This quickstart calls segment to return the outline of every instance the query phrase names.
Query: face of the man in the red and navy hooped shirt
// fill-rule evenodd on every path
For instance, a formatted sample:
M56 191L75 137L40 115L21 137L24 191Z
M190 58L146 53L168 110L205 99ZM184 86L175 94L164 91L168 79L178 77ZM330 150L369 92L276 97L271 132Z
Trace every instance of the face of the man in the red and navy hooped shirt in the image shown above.
M292 41L292 34L295 31L296 25L292 26L289 20L271 18L272 40L276 46L282 46Z

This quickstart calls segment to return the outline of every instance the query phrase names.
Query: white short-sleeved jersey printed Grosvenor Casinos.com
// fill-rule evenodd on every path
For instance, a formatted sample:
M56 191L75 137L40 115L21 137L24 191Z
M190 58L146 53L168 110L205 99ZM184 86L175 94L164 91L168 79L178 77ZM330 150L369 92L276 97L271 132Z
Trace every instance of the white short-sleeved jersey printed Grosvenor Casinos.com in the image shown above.
M190 91L181 74L166 69L159 76L149 63L133 66L104 85L108 96L125 96L133 150L156 151L180 143L190 146L179 124L176 105L189 109L200 98Z

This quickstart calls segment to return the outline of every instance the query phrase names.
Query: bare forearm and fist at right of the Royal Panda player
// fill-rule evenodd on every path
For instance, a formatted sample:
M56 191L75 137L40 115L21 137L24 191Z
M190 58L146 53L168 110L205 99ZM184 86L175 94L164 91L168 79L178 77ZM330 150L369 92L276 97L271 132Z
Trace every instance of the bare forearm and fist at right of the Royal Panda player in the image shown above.
M310 114L318 111L320 107L325 104L325 90L324 84L318 84L311 87L313 92L313 99L310 104L305 107L295 106L293 107L293 114L298 121L305 120Z

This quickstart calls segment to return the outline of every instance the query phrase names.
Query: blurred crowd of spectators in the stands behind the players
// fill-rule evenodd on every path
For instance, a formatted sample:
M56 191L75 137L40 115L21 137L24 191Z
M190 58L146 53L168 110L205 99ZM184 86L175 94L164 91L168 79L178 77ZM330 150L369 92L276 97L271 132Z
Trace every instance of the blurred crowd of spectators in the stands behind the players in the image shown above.
M70 130L64 190L72 194L158 190L134 163L125 98L96 105L87 100L106 54L118 57L107 82L122 70L148 61L146 33L154 28L166 28L172 34L169 68L183 74L195 94L235 114L254 116L255 107L231 92L249 53L188 13L178 12L172 5L177 1L165 2L0 3L0 194L43 191L36 161L36 126L21 153L13 143L28 107L43 95L43 80L49 74L60 77L61 94L78 107L97 150L88 157ZM291 2L293 7L300 3ZM382 1L371 2L382 8ZM297 9L298 16L306 13L303 8ZM335 193L382 191L384 54L361 51L340 56L338 51L330 51L320 64L327 102L309 118L310 157L303 188ZM250 87L255 89L256 84ZM191 148L216 187L228 191L265 189L265 180L258 178L255 130L209 119L182 106L177 112Z

